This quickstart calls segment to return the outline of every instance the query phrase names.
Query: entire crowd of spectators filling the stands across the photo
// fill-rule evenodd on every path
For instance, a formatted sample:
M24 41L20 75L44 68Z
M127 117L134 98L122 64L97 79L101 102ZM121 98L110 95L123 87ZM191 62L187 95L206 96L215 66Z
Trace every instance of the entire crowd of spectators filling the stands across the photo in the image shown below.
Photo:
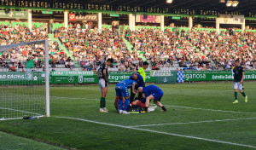
M99 32L92 23L70 24L54 31L55 38L61 41L49 41L49 63L51 67L61 65L71 68L78 63L86 71L96 71L97 66L108 58L113 58L114 71L137 71L143 59L151 69L178 67L186 70L230 70L235 60L247 70L256 69L256 33L237 32L228 29L217 34L213 30L195 30L185 32L183 28L172 30L140 27L131 32L128 29L116 30L102 28ZM43 26L0 25L0 44L24 43L46 39ZM125 38L125 39L124 39ZM127 44L131 43L132 49ZM68 53L70 55L68 55ZM44 45L34 44L9 49L3 52L0 67L9 71L25 68L33 61L36 68L44 67Z

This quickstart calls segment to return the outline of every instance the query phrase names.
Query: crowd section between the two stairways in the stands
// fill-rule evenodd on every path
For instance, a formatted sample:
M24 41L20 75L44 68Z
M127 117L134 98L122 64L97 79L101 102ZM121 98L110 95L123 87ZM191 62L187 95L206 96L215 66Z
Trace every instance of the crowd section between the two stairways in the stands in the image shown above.
M59 38L75 61L84 70L96 70L104 59L113 58L113 68L119 71L136 71L140 58L137 53L127 49L123 38L111 28L97 30L81 29L77 25L55 30L55 38Z

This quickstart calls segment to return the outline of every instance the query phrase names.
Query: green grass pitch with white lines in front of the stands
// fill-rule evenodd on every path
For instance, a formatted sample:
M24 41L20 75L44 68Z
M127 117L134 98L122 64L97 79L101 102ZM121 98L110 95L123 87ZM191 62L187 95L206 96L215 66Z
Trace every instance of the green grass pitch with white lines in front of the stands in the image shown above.
M256 83L244 85L248 102L238 94L232 104L232 83L161 84L167 112L130 115L116 113L114 85L109 113L98 112L96 85L51 87L50 118L0 121L0 130L67 149L256 149Z

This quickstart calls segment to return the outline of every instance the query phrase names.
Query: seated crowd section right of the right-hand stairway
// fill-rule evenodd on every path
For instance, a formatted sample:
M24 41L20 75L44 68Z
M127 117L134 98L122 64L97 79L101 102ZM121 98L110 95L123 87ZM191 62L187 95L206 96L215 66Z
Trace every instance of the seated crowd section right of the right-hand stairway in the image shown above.
M240 33L227 30L217 34L209 30L192 32L159 29L139 29L126 31L130 41L151 63L152 69L173 66L189 70L229 70L239 59L247 70L255 69L256 33Z

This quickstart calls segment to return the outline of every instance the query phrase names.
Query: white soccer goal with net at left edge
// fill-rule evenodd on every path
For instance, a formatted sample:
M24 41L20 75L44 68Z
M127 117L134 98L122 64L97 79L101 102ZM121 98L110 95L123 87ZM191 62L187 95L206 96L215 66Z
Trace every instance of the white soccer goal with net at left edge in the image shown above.
M0 46L0 120L49 117L49 43Z

